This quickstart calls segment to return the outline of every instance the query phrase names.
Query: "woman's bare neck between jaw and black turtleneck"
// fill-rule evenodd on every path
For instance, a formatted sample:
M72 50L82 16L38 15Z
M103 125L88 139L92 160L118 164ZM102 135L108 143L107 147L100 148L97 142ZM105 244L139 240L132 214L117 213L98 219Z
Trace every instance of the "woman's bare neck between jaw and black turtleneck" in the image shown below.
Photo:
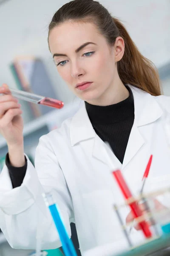
M87 101L91 105L108 106L121 102L129 96L129 91L122 83L119 75L114 74L114 81L111 82L107 90L97 99Z

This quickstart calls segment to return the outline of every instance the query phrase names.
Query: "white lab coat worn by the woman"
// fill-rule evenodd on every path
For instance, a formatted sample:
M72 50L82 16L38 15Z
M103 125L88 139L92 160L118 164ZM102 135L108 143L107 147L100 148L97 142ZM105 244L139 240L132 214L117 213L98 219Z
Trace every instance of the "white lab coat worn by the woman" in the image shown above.
M164 131L170 98L130 88L135 119L123 164L95 133L83 102L72 118L40 138L35 169L26 156L28 166L20 187L12 189L4 166L0 174L0 228L11 247L35 248L37 223L42 249L61 245L42 192L53 194L69 235L70 222L76 223L84 253L111 243L117 248L124 238L113 210L113 203L121 204L123 197L111 170L121 168L133 195L138 195L144 169L153 154L145 191L170 185L170 148ZM129 209L124 207L120 212L125 222ZM136 231L135 238L140 232ZM119 250L126 247L125 241Z

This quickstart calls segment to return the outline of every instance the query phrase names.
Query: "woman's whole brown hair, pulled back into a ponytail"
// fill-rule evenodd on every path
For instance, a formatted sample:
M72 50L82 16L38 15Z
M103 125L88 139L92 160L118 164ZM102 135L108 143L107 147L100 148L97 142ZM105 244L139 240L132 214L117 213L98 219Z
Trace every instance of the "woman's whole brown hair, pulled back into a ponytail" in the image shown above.
M161 94L159 74L153 62L139 52L123 24L97 1L74 0L63 5L49 24L48 47L51 29L69 20L93 22L111 46L121 36L125 52L117 63L117 69L123 84L131 84L154 96Z

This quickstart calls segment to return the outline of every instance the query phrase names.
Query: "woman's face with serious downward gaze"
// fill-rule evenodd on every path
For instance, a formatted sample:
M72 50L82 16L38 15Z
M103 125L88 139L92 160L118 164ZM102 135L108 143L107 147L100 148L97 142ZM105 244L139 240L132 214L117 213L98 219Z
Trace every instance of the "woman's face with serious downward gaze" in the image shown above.
M93 104L112 86L115 50L93 23L62 23L51 30L49 47L59 75L80 99ZM84 82L91 83L77 87Z

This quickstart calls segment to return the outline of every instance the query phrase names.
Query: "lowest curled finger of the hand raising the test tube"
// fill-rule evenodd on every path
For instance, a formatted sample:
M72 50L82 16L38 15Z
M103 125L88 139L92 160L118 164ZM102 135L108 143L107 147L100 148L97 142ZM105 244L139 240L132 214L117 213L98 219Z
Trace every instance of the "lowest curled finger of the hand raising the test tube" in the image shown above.
M6 111L5 115L0 119L0 128L5 128L12 121L14 116L22 114L23 111L20 108L11 108Z

